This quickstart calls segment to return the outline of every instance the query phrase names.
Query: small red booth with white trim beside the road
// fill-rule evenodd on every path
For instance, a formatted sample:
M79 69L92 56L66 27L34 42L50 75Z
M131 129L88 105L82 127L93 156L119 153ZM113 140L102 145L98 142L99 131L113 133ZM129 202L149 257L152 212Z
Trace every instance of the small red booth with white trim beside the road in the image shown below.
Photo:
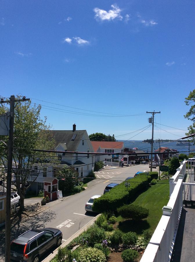
M58 179L47 177L44 179L44 197L48 196L50 200L57 199Z

